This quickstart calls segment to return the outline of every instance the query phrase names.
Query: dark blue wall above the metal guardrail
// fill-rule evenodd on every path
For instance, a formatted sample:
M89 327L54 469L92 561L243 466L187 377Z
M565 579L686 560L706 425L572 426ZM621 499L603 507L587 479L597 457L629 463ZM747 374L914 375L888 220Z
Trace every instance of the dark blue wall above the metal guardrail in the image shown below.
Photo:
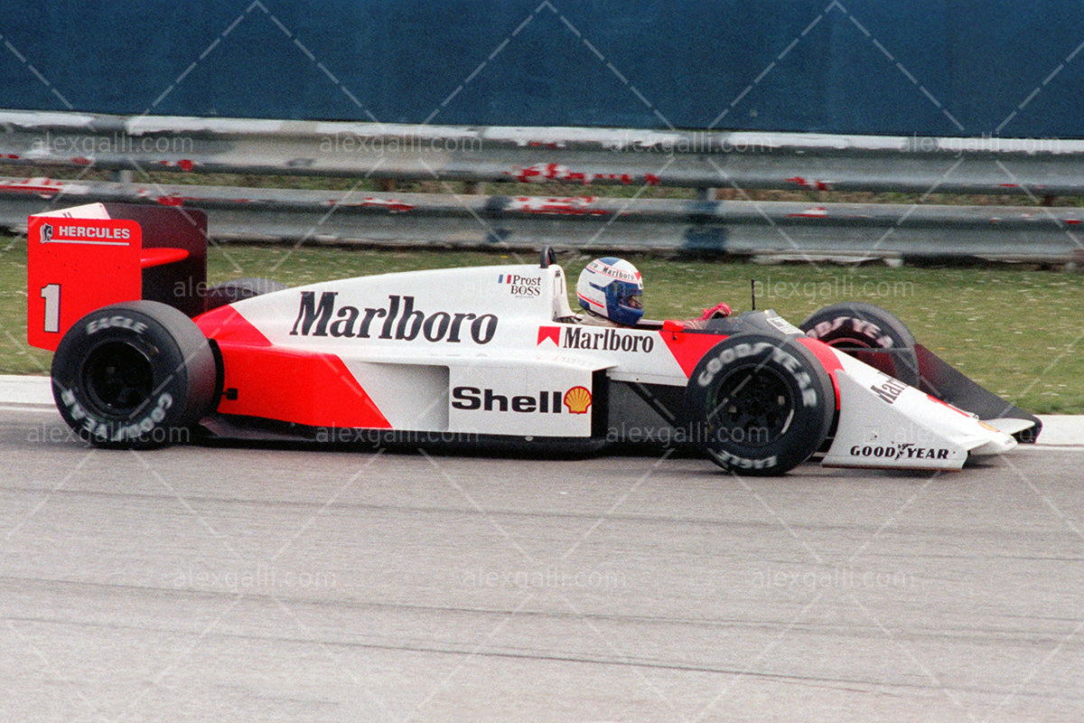
M1079 0L539 2L8 1L0 107L1084 137Z

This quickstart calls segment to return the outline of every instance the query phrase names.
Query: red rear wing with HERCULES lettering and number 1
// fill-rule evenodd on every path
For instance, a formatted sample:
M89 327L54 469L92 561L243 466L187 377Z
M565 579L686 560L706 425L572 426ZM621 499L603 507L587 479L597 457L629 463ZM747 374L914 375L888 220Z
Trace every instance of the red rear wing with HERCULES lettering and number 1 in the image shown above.
M150 299L204 312L207 216L191 208L88 204L29 217L27 340L53 351L81 317Z

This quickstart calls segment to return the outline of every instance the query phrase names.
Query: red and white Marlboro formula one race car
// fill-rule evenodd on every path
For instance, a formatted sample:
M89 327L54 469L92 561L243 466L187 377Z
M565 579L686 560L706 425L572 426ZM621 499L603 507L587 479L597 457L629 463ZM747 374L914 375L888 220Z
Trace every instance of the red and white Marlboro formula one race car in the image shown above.
M815 454L958 469L1040 429L876 307L835 305L800 327L772 311L592 326L547 249L538 264L208 288L202 212L92 204L30 217L28 275L29 340L55 350L61 415L99 447L193 431L654 444L776 475Z

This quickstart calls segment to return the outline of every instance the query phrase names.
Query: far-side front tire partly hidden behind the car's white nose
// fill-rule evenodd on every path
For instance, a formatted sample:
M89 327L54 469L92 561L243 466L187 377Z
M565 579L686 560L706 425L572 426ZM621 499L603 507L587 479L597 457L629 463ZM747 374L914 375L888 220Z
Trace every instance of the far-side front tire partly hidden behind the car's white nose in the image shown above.
M895 314L862 301L834 304L798 325L805 335L917 387L915 335Z

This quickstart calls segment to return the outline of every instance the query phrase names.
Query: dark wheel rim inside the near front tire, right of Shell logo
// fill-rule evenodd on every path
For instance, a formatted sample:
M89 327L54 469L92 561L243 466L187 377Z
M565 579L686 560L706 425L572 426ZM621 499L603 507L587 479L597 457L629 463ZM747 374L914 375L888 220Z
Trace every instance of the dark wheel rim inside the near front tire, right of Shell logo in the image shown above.
M711 432L745 447L763 447L786 434L795 399L786 378L766 367L735 370L715 392L708 413Z

